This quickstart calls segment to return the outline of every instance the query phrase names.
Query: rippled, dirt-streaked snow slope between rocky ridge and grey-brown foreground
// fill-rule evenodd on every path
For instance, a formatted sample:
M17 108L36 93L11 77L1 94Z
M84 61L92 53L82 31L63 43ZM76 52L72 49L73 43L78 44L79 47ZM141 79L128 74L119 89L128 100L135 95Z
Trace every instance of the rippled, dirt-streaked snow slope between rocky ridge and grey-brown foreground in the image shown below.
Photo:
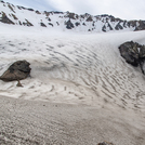
M118 47L145 44L145 31L76 34L0 25L0 75L15 61L31 65L31 78L0 81L0 95L25 100L119 106L145 111L145 77Z

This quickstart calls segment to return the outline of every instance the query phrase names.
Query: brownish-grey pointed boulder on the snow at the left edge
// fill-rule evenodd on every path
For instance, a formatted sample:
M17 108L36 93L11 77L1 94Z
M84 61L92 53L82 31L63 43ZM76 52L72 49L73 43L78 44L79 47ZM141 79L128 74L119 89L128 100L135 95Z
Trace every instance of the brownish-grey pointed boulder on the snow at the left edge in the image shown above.
M8 70L5 70L0 79L3 81L26 79L28 76L30 76L31 68L29 65L30 64L27 61L17 61L13 63Z

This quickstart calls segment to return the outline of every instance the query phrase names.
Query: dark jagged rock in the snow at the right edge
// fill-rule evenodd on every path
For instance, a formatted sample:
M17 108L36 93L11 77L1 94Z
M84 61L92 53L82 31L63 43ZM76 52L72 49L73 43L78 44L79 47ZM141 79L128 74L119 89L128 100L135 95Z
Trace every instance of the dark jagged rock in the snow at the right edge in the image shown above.
M127 63L136 67L140 65L141 70L144 74L143 65L145 62L145 45L128 41L119 47L119 51Z

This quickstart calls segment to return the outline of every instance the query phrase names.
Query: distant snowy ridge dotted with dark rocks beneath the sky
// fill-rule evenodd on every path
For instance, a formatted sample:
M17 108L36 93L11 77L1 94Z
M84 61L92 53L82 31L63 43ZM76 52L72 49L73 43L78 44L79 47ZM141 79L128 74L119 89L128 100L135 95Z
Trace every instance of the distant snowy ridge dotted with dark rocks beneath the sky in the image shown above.
M70 12L39 12L0 1L0 22L12 25L71 29L74 31L143 30L145 21L123 21L111 15L78 15Z

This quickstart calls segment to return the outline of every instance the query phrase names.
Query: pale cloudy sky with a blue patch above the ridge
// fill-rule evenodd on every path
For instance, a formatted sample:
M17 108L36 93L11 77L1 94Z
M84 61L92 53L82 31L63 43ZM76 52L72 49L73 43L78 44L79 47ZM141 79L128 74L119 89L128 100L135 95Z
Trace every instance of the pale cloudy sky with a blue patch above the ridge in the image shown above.
M145 0L4 0L41 11L109 14L122 19L145 19Z

